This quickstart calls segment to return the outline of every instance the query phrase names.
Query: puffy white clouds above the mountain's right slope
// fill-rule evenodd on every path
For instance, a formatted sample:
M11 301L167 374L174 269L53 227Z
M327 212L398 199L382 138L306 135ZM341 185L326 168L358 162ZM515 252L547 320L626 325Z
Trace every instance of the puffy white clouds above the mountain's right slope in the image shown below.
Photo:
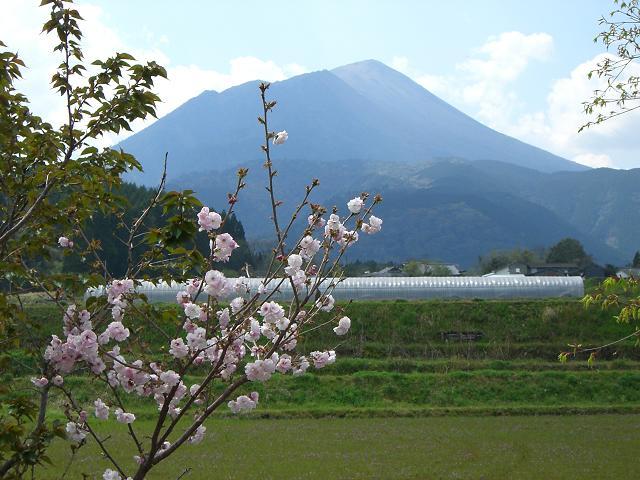
M603 80L587 74L603 55L577 65L553 82L546 104L523 111L517 82L533 61L553 54L553 38L546 33L502 33L471 52L456 66L457 74L439 76L405 70L416 82L473 117L503 133L592 167L640 167L640 112L608 120L578 133L588 118L582 103ZM640 75L640 66L632 67Z

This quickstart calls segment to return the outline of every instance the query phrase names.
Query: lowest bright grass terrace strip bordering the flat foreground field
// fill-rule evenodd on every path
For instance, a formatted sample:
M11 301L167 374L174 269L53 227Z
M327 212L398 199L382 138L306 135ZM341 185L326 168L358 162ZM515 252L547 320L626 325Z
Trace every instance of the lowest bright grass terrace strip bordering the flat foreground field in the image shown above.
M187 377L187 385L199 383ZM20 380L29 394L27 378ZM67 377L66 384L81 403L104 395L99 384L82 377ZM224 388L220 384L216 391ZM391 373L360 371L347 375L274 375L265 384L254 382L238 394L256 390L260 409L309 412L326 409L429 408L607 408L640 404L640 372L619 371L514 371L471 370L450 373ZM155 412L155 403L127 396L136 414ZM52 396L54 408L63 401ZM223 409L224 410L224 409ZM606 411L606 410L605 410Z

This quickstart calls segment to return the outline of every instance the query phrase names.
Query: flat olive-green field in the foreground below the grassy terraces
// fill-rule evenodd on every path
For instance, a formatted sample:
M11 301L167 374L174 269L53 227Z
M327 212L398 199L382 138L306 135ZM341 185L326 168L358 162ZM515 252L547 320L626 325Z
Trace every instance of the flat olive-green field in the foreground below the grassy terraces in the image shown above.
M124 444L124 427L108 425L108 443ZM217 419L207 429L148 478L175 479L183 465L186 480L635 478L640 448L640 415ZM68 448L56 441L56 464L36 478L58 479ZM132 453L115 450L133 468ZM108 466L89 444L67 478L99 479Z

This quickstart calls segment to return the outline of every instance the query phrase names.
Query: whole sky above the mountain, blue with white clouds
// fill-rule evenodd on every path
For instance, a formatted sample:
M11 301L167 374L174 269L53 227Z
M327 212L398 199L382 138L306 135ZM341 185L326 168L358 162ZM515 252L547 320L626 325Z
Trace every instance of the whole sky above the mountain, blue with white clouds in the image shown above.
M11 13L0 39L30 66L22 86L34 109L55 119L47 79L56 59L38 34L47 9L2 1ZM501 132L585 164L640 167L640 112L577 133L581 102L597 87L586 74L603 53L593 38L609 0L77 3L88 57L128 51L168 68L161 115L205 89L375 58Z

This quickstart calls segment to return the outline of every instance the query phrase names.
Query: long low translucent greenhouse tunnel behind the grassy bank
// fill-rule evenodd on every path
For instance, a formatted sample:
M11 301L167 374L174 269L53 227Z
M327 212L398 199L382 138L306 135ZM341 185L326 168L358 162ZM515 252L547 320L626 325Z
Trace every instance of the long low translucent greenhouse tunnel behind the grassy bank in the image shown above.
M283 279L275 279L267 286L270 293L278 284L278 291L272 300L290 300L291 284ZM251 293L256 293L262 278L246 280ZM338 279L326 279L321 290L329 288ZM175 302L176 294L184 290L181 284L141 282L138 293L145 294L152 302ZM89 295L102 293L102 289L88 292ZM304 294L305 291L302 291ZM336 300L426 300L436 298L451 299L511 299L511 298L559 298L582 297L584 284L582 277L351 277L339 282L333 290Z

